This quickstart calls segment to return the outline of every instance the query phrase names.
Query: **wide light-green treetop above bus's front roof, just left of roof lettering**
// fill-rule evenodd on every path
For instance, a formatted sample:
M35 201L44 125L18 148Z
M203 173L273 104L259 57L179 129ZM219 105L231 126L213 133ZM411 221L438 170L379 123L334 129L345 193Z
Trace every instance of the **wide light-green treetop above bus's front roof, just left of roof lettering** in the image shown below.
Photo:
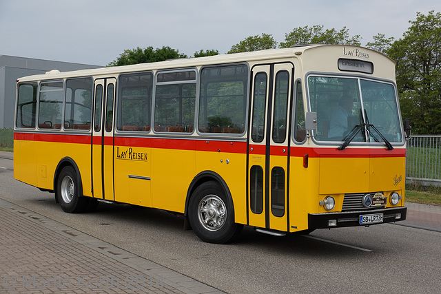
M314 25L309 28L307 25L298 27L292 32L285 34L285 42L280 43L280 48L289 48L293 45L320 43L320 44L342 44L360 45L360 35L349 36L349 29L343 27L337 31L332 28L323 30L323 25Z

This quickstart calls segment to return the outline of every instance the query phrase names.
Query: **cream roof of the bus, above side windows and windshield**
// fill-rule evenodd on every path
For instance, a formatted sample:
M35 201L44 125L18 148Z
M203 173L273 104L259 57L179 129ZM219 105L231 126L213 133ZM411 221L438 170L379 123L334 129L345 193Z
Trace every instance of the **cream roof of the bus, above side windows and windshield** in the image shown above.
M173 59L170 61L161 61L157 63L139 63L136 65L123 65L118 67L102 67L92 70L76 70L72 72L59 72L57 70L51 70L46 72L46 74L39 74L34 76L25 76L19 78L19 82L24 81L38 81L38 80L48 80L57 78L68 78L77 76L116 76L117 74L124 72L139 72L143 70L165 70L165 69L177 69L181 67L198 67L202 65L215 65L223 63L260 63L260 61L274 61L276 59L287 59L287 58L297 58L301 60L303 72L336 72L338 71L336 66L336 60L338 58L345 58L351 56L345 56L345 48L347 52L349 50L362 50L363 52L369 52L369 58L367 59L374 63L374 68L380 66L381 70L384 67L389 69L386 76L390 76L390 63L393 61L389 57L380 54L374 50L362 47L354 47L349 45L325 45L325 44L315 44L315 45L298 45L291 48L283 49L270 49L261 50L254 52L245 52L237 54L220 54L216 56L207 56L191 59ZM331 54L331 55L329 55ZM314 56L312 56L314 55ZM334 61L329 62L329 56L334 56ZM353 58L352 56L351 58ZM384 63L384 64L382 64ZM384 66L386 65L386 66ZM393 67L393 78L394 67Z

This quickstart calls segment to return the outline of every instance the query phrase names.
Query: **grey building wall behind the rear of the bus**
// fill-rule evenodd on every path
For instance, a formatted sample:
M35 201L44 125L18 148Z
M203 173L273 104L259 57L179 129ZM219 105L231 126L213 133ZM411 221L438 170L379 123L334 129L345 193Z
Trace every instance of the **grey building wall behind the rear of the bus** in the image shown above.
M102 66L0 55L0 129L14 126L17 78L44 74L50 70L68 72L98 67Z

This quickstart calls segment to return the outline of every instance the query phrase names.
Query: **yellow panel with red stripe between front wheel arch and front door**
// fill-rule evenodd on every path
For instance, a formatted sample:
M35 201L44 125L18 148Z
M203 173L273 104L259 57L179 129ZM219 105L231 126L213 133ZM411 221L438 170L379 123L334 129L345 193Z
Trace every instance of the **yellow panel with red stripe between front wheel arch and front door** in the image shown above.
M208 141L207 141L208 142ZM196 173L201 171L214 171L227 183L228 189L232 194L234 204L234 219L239 224L247 223L247 202L246 202L246 143L243 149L234 146L241 143L229 143L216 145L216 141L210 141L216 151L196 151ZM207 149L204 147L204 149ZM225 149L225 151L223 151ZM228 149L243 151L243 153L228 153ZM217 151L220 150L220 151Z

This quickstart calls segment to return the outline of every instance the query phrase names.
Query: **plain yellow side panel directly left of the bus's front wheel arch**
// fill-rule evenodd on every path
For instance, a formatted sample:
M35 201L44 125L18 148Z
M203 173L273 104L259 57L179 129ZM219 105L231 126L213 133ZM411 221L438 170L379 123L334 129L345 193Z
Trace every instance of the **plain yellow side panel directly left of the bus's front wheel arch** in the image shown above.
M183 145L193 145L191 141ZM184 213L185 197L194 178L194 147L152 148L152 207Z

